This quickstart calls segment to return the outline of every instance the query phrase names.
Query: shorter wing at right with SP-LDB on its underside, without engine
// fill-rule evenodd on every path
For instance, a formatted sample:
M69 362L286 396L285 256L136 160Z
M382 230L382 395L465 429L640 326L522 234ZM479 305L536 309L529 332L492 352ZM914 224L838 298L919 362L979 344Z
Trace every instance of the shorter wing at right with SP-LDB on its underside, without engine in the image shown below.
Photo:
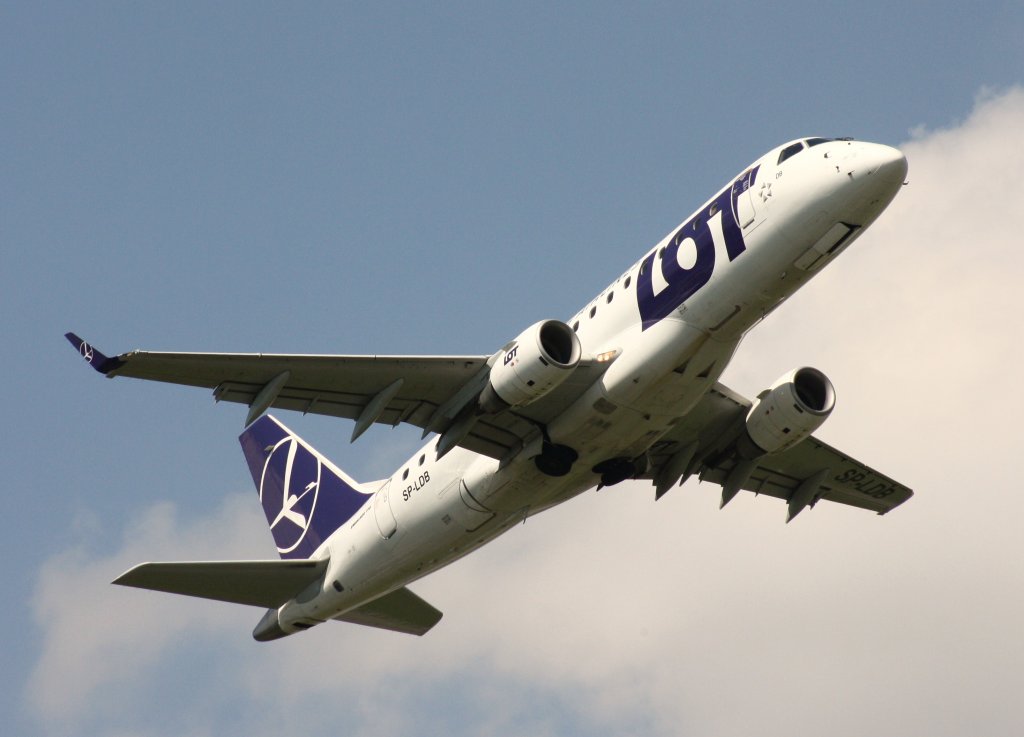
M654 482L656 495L693 474L722 486L724 507L740 490L785 500L788 522L820 500L886 514L913 492L813 435L788 450L748 462L731 451L751 402L716 384L649 452L641 478Z

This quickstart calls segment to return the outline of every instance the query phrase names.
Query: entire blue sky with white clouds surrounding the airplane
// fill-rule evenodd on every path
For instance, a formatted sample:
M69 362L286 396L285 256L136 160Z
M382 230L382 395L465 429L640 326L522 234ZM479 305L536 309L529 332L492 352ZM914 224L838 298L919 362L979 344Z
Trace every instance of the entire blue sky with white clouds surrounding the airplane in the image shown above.
M1024 6L0 8L6 734L1019 734ZM589 492L415 584L417 639L109 581L273 557L244 407L106 381L154 350L489 354L566 318L767 149L909 184L753 332L824 371L886 517L688 482ZM364 480L418 431L282 419Z

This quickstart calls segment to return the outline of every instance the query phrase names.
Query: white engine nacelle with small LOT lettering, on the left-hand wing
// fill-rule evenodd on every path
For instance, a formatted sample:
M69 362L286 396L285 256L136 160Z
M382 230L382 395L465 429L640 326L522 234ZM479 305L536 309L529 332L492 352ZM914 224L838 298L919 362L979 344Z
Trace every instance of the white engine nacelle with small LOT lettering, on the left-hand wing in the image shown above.
M480 395L480 406L496 413L540 399L580 363L580 338L560 320L541 320L502 349L490 366L490 381Z

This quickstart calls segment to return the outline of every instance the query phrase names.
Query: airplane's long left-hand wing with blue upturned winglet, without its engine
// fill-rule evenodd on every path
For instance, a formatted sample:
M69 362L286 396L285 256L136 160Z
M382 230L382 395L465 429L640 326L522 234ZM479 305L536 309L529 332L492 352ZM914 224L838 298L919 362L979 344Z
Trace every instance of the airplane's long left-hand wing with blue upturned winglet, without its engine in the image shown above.
M68 333L97 372L114 377L206 387L217 401L250 407L248 426L270 407L355 421L352 440L374 423L408 423L456 433L452 444L502 459L541 435L541 426L575 400L608 363L580 361L550 394L519 411L471 418L463 409L486 386L495 356L373 356L131 351L106 356ZM469 425L468 431L465 425ZM465 434L463 434L465 431Z

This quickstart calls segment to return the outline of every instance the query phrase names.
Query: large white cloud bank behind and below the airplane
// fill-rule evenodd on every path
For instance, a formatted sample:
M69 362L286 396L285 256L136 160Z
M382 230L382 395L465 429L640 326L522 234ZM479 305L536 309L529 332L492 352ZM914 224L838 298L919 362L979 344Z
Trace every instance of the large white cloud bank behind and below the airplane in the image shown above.
M105 733L1011 732L1024 687L1022 129L1015 88L961 125L915 131L910 185L728 377L753 393L805 362L829 374L841 403L823 436L916 489L891 516L819 505L784 525L773 500L718 513L713 487L655 505L624 484L414 586L446 613L426 638L329 624L256 645L254 609L105 584L140 560L267 550L251 495L197 523L158 505L119 550L65 552L41 571L33 708L54 731ZM176 661L185 639L217 667ZM176 679L207 695L191 717L150 724ZM127 717L97 705L115 687L138 699Z

